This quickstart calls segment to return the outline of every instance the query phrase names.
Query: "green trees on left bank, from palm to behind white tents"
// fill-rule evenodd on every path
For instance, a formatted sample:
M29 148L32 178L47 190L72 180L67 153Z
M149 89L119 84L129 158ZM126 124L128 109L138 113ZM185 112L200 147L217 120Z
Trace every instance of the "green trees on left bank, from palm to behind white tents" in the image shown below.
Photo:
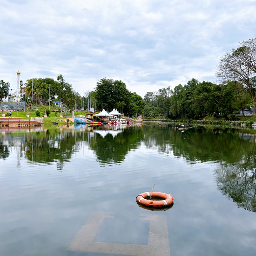
M1 99L8 96L10 84L0 82ZM30 78L25 83L20 81L20 90L25 88L21 101L26 99L27 106L48 105L58 101L65 110L82 110L94 107L101 111L105 108L111 111L116 108L127 116L136 116L143 113L144 100L135 92L130 92L121 80L100 79L94 90L85 92L84 95L76 92L62 74L56 80L53 78Z

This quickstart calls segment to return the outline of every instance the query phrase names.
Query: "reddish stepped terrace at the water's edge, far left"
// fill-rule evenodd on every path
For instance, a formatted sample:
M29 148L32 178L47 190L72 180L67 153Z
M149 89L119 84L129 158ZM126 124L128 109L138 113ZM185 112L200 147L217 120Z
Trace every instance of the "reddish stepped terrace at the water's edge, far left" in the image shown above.
M22 119L20 117L0 117L2 127L38 127L44 125L43 118Z

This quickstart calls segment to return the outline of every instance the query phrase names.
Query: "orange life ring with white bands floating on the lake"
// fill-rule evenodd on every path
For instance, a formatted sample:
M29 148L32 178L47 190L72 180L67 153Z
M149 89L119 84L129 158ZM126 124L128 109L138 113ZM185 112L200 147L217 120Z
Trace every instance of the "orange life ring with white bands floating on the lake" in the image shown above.
M173 203L173 197L170 194L165 194L162 192L153 192L152 197L157 198L158 200L149 200L150 195L151 192L141 193L138 196L136 196L136 202L148 207L165 207Z

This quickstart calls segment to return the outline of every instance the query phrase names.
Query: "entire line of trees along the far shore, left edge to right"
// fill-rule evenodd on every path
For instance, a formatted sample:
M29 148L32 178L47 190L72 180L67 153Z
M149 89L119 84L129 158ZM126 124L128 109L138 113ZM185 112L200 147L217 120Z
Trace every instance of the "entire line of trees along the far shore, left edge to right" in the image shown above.
M216 76L220 83L199 82L195 78L171 90L147 92L144 98L130 92L121 80L102 78L90 93L81 96L60 74L57 79L32 78L24 84L30 104L47 104L58 100L66 109L95 107L98 111L116 108L126 116L166 116L166 118L200 119L207 115L224 116L254 106L256 114L256 38L243 41L220 59ZM23 86L23 82L21 85ZM9 83L1 80L0 97L6 96ZM50 90L50 92L49 92ZM32 102L32 100L34 102ZM87 102L89 101L89 104ZM86 103L84 105L84 102Z

